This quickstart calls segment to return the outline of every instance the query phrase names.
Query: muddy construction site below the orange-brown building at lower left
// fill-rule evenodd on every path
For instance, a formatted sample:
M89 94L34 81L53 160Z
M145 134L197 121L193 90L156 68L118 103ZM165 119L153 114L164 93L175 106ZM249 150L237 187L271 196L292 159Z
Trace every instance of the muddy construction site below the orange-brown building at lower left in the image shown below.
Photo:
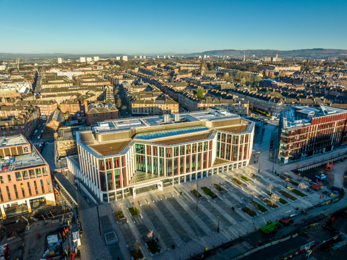
M71 231L76 222L75 205L55 180L54 183L55 206L38 199L32 202L31 213L26 205L18 205L11 207L12 214L7 214L6 219L1 219L1 245L6 245L10 252L10 256L2 255L5 260L76 256L80 233Z

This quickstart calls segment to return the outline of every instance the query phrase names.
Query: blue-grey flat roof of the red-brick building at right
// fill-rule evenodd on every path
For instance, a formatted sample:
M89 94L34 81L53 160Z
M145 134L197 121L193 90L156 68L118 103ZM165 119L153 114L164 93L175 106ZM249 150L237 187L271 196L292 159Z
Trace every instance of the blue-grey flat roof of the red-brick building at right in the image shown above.
M309 126L311 125L312 118L343 114L347 113L347 110L327 106L294 106L289 107L289 109L282 113L282 128L290 129Z

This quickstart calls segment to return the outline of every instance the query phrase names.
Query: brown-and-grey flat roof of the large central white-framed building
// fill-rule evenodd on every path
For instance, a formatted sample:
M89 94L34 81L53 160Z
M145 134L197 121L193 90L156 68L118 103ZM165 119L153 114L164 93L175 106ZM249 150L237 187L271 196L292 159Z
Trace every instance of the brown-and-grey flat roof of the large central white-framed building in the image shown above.
M241 134L254 123L221 109L202 112L128 118L98 122L93 131L77 132L77 143L96 155L111 156L125 151L134 141L174 145L213 138L215 130Z

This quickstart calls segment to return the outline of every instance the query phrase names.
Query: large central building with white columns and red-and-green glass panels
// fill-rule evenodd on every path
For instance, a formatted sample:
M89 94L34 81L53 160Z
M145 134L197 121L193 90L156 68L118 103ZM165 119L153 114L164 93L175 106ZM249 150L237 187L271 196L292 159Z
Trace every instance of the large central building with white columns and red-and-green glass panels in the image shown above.
M67 161L102 201L247 166L253 146L253 122L212 108L98 125L76 132L78 156Z

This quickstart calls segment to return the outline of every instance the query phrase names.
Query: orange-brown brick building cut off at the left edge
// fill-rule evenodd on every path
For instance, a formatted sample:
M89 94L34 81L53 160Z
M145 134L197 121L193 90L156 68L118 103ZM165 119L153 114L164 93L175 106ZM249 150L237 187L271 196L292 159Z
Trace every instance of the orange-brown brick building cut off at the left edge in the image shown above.
M0 208L6 210L26 203L32 212L33 200L44 198L56 204L50 167L22 135L0 138Z

